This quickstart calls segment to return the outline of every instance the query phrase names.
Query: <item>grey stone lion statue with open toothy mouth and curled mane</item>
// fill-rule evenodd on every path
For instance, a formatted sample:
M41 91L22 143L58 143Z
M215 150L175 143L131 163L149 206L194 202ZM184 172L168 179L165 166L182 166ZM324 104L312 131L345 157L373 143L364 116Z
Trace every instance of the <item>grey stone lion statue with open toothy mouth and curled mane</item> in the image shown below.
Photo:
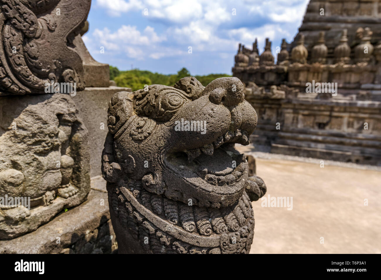
M178 131L186 121L205 122L205 133ZM115 94L102 173L119 252L249 253L250 198L266 186L257 176L248 180L246 156L234 144L248 144L256 122L237 78L204 87L186 77L173 87Z

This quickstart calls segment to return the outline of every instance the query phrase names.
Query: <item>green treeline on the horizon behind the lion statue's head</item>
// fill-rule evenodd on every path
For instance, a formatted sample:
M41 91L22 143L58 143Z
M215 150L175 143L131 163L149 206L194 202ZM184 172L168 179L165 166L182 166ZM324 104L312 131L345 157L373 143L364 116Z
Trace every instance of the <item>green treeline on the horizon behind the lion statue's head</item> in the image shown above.
M132 88L133 91L144 88L144 85L173 86L181 78L189 76L191 76L191 73L186 68L182 68L177 74L164 75L139 69L120 71L117 67L110 66L110 79L114 80L117 86ZM231 76L227 74L209 74L205 76L196 75L194 77L206 86L216 78Z

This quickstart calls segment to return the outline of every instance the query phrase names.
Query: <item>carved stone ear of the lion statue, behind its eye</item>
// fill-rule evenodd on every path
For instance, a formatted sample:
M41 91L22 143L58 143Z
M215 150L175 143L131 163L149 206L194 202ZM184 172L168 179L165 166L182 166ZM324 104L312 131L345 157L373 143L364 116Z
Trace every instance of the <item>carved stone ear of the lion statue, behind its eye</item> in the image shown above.
M133 93L120 91L112 96L109 102L107 126L115 134L134 114Z

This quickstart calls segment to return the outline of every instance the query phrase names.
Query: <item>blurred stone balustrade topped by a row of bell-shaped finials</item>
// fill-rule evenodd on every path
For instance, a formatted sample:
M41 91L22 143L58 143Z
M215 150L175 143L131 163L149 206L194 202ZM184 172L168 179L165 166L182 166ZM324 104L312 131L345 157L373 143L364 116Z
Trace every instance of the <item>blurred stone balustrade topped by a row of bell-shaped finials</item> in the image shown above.
M357 95L353 92L354 89L358 91L362 85L367 87L367 84L380 83L380 46L372 38L373 32L369 27L359 27L356 34L352 32L350 35L347 29L343 29L341 36L336 36L335 40L327 42L325 34L324 31L320 31L317 40L314 35L314 41L310 45L305 43L302 32L299 32L291 45L283 40L277 65L272 63L273 57L268 47L270 43L266 40L267 51L261 54L261 65L254 66L249 63L246 66L236 63L232 69L233 74L245 85L254 82L258 86L265 86L266 91L271 90L271 86L282 84L295 87L302 92L305 91L306 84L312 81L337 83L341 92L338 95L317 94L315 96L317 98L323 96L326 99L353 100ZM348 43L349 38L351 38L350 43ZM309 40L311 41L311 38ZM335 48L328 48L328 42L330 45L334 44ZM288 48L295 44L289 57ZM309 50L311 56L309 56ZM239 54L240 57L241 54L245 56L245 49ZM371 99L377 101L379 96L372 93Z

